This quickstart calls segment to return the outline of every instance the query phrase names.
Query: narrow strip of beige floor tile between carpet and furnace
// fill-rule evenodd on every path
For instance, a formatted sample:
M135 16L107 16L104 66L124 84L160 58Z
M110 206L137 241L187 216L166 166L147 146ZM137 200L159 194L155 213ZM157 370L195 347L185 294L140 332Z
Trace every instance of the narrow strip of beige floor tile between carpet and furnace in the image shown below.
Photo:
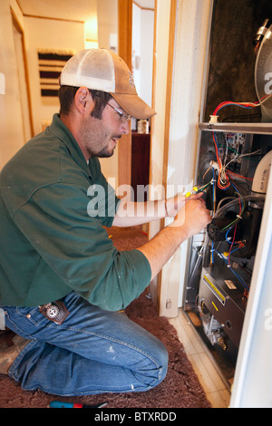
M228 388L211 362L205 344L182 309L179 310L176 318L169 318L169 321L177 330L180 342L184 346L212 408L228 408L230 399Z

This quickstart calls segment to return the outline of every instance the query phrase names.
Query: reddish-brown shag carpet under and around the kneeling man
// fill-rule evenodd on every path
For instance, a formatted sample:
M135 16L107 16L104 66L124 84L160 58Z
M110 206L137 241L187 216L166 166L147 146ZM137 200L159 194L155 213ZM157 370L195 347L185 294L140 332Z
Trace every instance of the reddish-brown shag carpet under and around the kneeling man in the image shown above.
M140 247L146 236L139 228L111 228L108 230L114 245L122 249ZM176 330L165 317L159 317L144 292L126 309L127 315L146 328L165 344L169 353L166 378L148 392L107 393L76 398L54 397L41 391L25 392L20 384L0 374L0 408L46 408L53 400L95 404L109 402L107 408L210 408L205 392L193 371ZM0 335L0 339L5 338Z

